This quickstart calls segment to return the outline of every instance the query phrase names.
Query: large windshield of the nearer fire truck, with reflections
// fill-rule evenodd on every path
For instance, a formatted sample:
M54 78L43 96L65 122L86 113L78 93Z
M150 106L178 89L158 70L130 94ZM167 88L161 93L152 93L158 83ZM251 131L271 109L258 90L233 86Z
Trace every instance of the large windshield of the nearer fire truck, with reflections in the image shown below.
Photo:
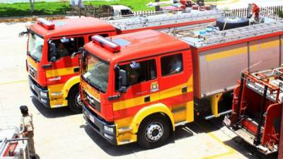
M82 76L91 86L105 93L108 86L109 64L88 52L83 56Z

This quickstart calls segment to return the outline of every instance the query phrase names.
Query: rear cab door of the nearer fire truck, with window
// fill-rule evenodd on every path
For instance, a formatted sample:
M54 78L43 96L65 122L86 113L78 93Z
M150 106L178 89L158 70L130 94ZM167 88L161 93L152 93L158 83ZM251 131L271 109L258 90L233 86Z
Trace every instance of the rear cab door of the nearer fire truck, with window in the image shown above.
M166 54L159 60L158 73L160 100L168 107L175 107L192 100L192 71L185 63L187 55L184 53ZM190 71L190 73L189 73Z

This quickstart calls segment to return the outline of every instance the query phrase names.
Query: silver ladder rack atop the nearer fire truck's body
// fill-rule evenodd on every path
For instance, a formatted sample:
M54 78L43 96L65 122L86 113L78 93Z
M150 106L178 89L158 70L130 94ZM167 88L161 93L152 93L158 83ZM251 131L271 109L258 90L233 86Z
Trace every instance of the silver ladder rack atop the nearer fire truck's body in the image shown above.
M186 37L181 37L181 39L186 42L189 42L195 47L206 47L209 45L216 45L223 42L230 42L234 40L246 39L248 37L276 33L282 30L283 20L278 20L271 23L260 23L256 25L249 25L246 27L234 28L230 30L214 30L212 33L202 35L202 38L200 38L198 42L192 42ZM178 33L176 33L176 35L178 35Z

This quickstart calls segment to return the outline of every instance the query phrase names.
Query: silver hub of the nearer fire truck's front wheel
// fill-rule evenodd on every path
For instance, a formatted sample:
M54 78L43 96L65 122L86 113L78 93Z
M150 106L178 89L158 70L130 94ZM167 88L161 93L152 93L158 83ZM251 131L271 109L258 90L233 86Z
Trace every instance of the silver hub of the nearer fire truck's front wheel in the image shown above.
M148 141L158 141L161 139L161 136L163 135L163 126L156 122L149 124L149 126L146 127L146 139Z

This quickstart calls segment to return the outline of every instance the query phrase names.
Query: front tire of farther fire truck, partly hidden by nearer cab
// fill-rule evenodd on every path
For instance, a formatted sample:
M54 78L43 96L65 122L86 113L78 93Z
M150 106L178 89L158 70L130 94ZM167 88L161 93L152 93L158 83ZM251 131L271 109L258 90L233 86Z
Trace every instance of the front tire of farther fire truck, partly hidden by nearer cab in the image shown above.
M68 107L74 113L81 113L81 97L79 94L79 86L75 86L71 88L69 95L68 95Z

